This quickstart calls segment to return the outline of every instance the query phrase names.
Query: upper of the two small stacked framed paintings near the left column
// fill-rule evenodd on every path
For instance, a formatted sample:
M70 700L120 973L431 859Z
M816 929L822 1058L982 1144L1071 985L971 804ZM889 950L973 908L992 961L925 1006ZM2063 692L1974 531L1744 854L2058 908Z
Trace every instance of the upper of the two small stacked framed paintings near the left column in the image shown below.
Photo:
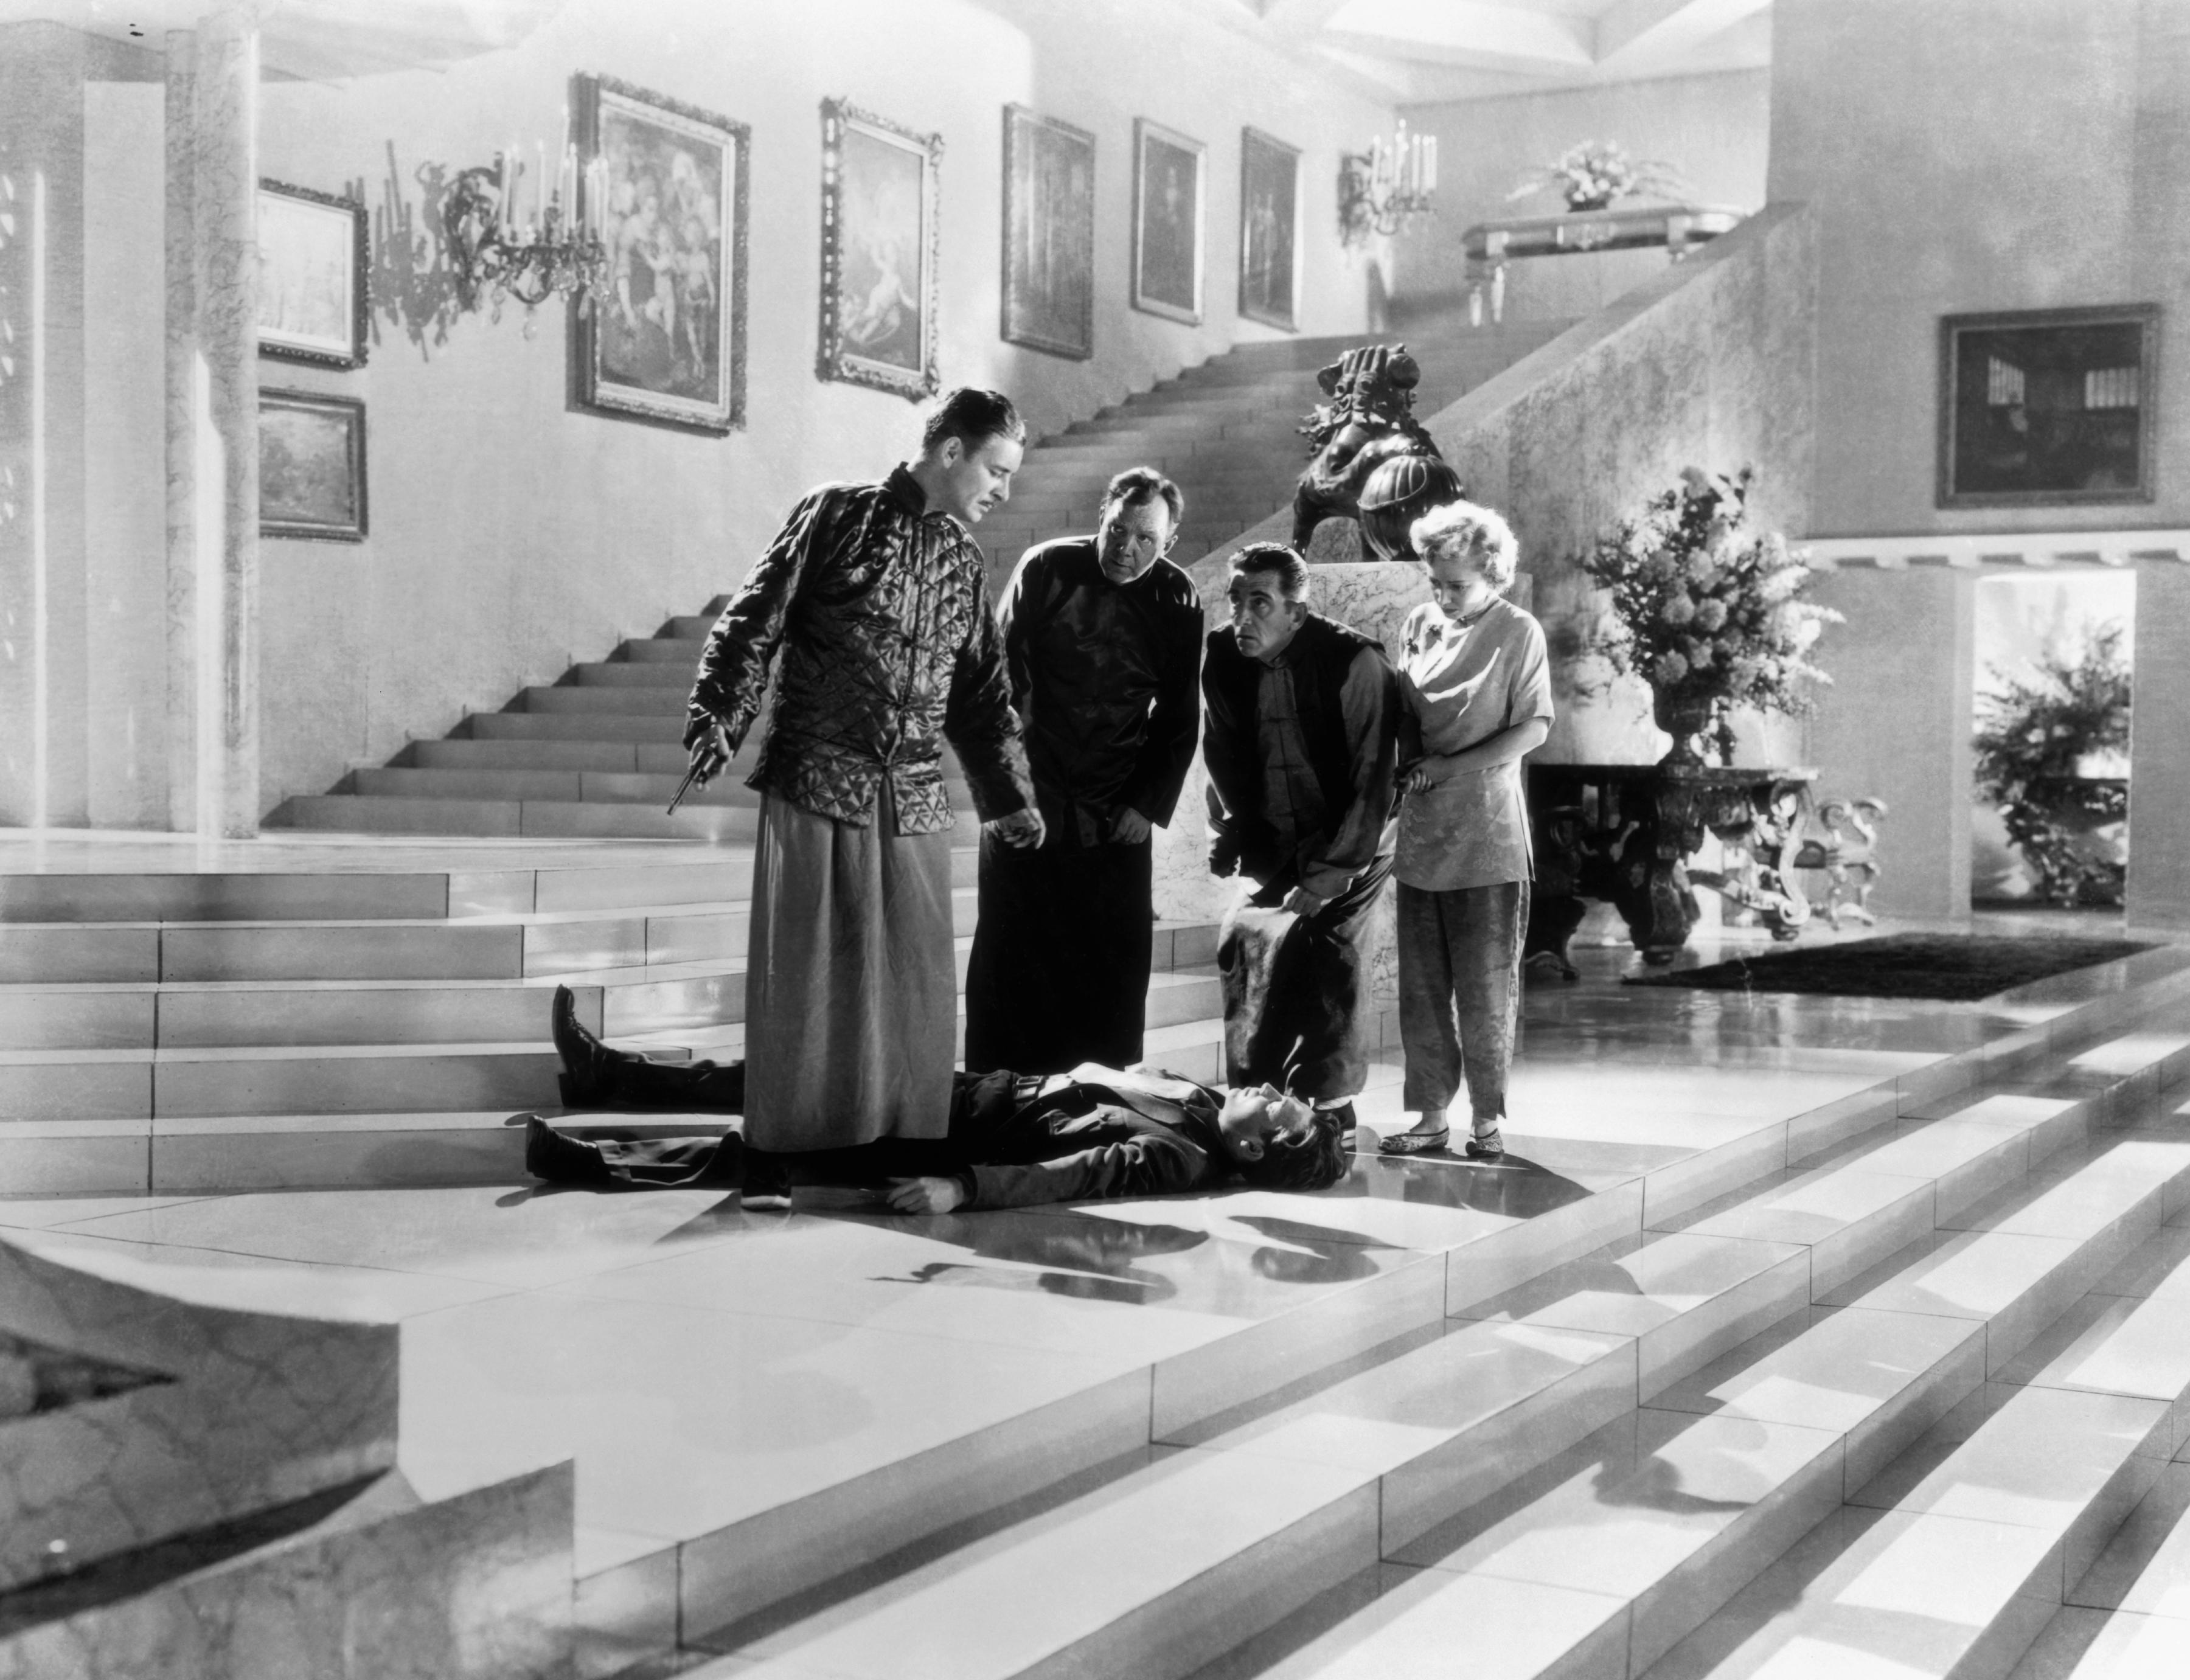
M366 366L366 206L258 182L258 355Z

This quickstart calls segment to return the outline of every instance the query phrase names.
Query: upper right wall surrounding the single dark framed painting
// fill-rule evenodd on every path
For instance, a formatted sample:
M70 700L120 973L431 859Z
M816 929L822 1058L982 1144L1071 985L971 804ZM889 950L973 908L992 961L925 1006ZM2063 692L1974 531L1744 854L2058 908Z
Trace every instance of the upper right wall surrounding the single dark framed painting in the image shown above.
M1816 534L2190 521L2168 340L2155 504L1934 506L1940 315L2186 302L2190 7L1776 0L1772 59L1770 191L1822 234Z

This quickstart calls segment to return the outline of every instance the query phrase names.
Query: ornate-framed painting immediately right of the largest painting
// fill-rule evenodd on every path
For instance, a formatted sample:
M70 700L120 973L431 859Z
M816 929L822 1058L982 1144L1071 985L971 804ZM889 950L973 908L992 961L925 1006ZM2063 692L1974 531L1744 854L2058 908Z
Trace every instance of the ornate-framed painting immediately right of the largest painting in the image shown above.
M821 101L821 379L920 401L935 370L944 138Z

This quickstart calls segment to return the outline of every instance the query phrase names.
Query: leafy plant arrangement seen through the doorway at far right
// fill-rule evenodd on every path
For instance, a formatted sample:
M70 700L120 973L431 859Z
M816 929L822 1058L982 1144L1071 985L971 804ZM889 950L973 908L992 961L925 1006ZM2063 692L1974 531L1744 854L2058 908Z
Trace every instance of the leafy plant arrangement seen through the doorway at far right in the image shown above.
M2129 815L2129 782L2087 775L2087 760L2129 751L2129 659L2122 626L2087 629L2070 655L2048 648L2037 681L1993 670L1980 697L1978 791L1999 806L2008 839L2052 905L2120 905L2120 848L2094 835Z

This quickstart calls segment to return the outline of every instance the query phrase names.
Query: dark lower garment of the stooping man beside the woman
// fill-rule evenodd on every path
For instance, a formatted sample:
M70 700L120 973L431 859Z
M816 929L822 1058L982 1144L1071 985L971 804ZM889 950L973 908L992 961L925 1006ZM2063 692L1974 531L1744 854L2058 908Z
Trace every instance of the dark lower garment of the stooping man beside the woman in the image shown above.
M1338 1102L1369 1082L1369 911L1388 878L1391 859L1378 859L1277 937L1272 911L1253 900L1224 918L1218 968L1231 1084Z

